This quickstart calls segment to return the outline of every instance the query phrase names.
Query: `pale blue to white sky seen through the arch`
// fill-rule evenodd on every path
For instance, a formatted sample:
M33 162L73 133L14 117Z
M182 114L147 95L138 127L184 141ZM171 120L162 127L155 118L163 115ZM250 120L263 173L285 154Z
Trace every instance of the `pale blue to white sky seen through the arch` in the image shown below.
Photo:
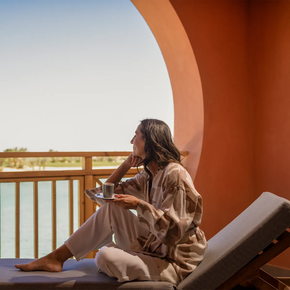
M0 151L132 151L139 120L166 122L160 48L129 0L0 0Z

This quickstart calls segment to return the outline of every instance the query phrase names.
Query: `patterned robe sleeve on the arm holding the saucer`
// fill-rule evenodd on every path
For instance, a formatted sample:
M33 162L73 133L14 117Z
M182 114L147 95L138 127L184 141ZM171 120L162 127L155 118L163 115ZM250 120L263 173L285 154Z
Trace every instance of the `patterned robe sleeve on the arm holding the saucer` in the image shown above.
M140 200L137 213L138 224L153 233L166 246L175 246L189 229L196 210L196 202L184 189L177 186L162 193L162 206Z

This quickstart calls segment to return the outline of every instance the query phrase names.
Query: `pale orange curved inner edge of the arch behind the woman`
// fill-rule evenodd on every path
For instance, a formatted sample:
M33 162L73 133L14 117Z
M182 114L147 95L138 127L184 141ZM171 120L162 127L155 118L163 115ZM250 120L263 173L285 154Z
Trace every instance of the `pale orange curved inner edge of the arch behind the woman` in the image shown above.
M174 102L174 140L188 151L185 164L194 180L202 149L204 110L195 56L169 0L131 0L151 29L164 57Z

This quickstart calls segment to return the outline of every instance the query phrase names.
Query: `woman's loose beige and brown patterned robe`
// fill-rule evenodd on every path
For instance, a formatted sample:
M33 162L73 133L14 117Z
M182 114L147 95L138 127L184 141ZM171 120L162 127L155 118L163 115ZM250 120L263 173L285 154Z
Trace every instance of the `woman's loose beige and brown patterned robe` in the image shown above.
M134 195L140 199L137 207L139 225L148 235L140 235L130 250L164 258L169 261L180 280L185 279L203 260L207 242L199 228L202 218L202 197L194 188L189 173L176 163L160 170L152 182L146 171L125 182L116 182L114 194ZM104 203L95 197L102 187L86 190L91 200ZM156 260L155 260L156 262Z

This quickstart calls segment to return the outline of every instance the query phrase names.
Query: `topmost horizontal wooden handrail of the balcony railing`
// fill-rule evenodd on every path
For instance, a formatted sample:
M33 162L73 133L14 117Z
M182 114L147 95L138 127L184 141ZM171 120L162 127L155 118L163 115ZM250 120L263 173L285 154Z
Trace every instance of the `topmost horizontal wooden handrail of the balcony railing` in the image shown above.
M0 158L11 157L113 157L129 156L132 151L108 151L108 152L0 152ZM187 151L182 151L187 155Z

